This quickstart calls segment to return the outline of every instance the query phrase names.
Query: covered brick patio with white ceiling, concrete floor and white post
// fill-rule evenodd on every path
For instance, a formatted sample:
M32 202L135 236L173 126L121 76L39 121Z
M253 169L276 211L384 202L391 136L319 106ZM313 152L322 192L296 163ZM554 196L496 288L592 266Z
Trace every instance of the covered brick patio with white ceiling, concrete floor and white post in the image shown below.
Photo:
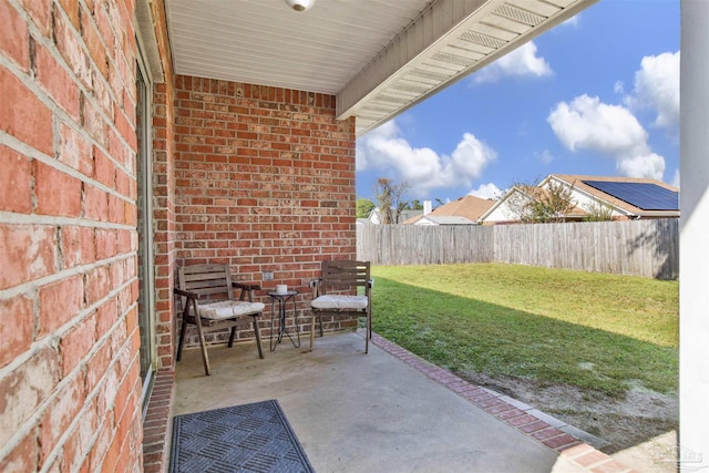
M594 2L0 0L0 470L162 472L172 414L276 398L319 471L614 471L382 340L215 347L209 378L197 353L175 363L178 266L307 294L322 260L356 257L357 137ZM679 460L698 467L708 18L682 0Z

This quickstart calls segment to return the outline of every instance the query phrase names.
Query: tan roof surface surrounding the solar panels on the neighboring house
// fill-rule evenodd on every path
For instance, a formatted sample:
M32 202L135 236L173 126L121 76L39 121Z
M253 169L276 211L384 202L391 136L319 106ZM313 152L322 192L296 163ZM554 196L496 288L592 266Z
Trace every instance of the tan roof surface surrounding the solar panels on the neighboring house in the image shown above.
M593 187L586 184L586 181L592 182L607 182L607 183L637 183L637 184L655 184L662 188L666 188L671 192L679 192L679 187L675 187L670 184L666 184L661 181L657 179L648 179L643 177L621 177L621 176L589 176L589 175L578 175L578 174L549 174L540 185L544 185L548 179L557 179L566 183L567 185L573 185L578 192L586 193L595 198L602 200L605 204L617 207L618 209L624 210L626 214L630 216L638 217L678 217L679 210L646 210L639 207L636 207L633 204L629 204L620 198L617 198L608 193L605 193L596 187Z

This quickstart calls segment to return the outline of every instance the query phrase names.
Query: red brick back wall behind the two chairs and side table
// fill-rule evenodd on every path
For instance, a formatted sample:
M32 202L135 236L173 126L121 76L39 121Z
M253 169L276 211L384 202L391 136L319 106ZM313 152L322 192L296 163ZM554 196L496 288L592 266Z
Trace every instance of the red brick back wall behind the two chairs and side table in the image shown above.
M356 257L353 125L331 95L176 76L178 261L228 264L264 302L287 284L304 312L320 261Z

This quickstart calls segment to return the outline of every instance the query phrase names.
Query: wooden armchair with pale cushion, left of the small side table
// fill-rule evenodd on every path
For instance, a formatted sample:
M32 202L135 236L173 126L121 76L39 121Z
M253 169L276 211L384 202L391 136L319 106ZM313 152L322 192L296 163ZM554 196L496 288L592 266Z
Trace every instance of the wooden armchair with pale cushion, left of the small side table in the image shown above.
M234 289L240 289L238 300ZM175 295L182 300L182 329L177 346L177 361L182 358L187 325L197 326L204 370L209 374L209 358L205 333L230 328L228 347L234 345L236 329L253 323L258 357L264 358L258 333L258 317L264 311L261 302L254 302L254 291L260 286L232 280L228 265L191 265L177 268ZM248 298L248 300L247 300Z

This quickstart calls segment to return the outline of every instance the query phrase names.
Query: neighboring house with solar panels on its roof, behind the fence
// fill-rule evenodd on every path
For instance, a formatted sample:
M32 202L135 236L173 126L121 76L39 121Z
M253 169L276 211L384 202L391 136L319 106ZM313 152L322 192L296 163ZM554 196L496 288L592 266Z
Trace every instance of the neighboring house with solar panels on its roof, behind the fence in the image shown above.
M551 174L534 189L513 187L497 200L480 222L484 225L517 223L521 203L545 193L551 184L567 186L575 207L563 216L565 222L583 220L594 208L607 209L613 219L678 218L679 188L656 179L640 177L585 176Z

